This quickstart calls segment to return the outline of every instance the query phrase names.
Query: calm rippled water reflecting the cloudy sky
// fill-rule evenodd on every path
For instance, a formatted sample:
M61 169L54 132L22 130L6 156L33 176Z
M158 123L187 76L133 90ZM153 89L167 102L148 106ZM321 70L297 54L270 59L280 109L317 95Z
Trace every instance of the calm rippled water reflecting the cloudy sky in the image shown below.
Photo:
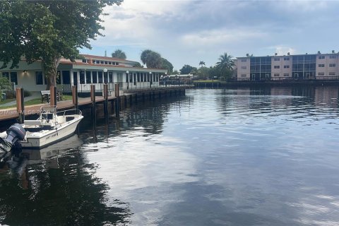
M1 169L0 222L339 225L338 92L187 90L96 130L88 117Z

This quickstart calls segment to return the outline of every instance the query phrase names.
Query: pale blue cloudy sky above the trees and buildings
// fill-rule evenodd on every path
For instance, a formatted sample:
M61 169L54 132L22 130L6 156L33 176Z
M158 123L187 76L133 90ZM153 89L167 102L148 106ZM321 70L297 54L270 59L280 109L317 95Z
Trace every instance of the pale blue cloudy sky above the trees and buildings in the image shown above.
M151 49L182 66L214 66L233 58L339 52L339 1L124 0L107 6L105 37L83 54L111 56L116 49L139 61Z

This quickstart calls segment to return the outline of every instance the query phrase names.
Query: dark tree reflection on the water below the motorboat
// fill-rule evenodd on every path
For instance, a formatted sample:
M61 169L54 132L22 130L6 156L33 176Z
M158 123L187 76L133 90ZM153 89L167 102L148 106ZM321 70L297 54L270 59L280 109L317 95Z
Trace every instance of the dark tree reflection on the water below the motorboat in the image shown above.
M0 172L1 224L124 225L129 222L129 204L118 200L105 203L107 185L93 176L96 166L88 164L78 149L23 167Z

